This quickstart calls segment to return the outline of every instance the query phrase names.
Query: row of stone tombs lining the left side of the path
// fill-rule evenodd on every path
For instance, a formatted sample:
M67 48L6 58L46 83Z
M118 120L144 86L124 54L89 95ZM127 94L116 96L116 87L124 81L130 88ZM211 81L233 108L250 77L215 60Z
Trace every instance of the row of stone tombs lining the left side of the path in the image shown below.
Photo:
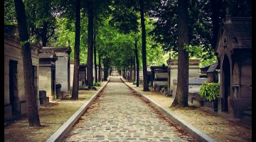
M4 121L11 121L27 112L21 45L16 33L16 26L4 27ZM71 91L74 63L70 61L70 53L70 45L42 47L39 43L31 44L33 87L38 108L65 97ZM80 64L80 87L86 80L86 69L85 64ZM101 68L101 77L102 72Z

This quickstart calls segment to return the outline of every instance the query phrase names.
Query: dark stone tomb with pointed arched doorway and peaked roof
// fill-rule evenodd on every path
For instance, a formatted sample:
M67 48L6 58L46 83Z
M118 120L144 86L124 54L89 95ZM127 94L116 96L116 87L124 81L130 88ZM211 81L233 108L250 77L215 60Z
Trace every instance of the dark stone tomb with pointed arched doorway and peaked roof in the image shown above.
M241 118L252 107L252 18L225 16L215 51L221 78L218 113Z

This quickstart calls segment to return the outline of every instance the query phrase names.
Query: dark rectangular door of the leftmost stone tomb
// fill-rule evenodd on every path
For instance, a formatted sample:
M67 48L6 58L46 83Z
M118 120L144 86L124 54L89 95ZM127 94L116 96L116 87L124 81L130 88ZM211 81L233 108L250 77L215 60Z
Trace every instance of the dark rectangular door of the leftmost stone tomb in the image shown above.
M21 114L21 104L18 99L18 78L17 61L9 61L9 99L11 104L11 114L18 116Z

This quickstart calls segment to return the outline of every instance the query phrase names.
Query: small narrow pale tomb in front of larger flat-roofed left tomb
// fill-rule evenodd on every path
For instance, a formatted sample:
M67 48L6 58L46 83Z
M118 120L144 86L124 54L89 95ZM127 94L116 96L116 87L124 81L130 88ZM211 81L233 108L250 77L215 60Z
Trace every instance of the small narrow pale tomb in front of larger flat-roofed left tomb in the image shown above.
M50 102L56 99L55 61L58 57L53 50L41 50L39 54L39 90L45 90Z

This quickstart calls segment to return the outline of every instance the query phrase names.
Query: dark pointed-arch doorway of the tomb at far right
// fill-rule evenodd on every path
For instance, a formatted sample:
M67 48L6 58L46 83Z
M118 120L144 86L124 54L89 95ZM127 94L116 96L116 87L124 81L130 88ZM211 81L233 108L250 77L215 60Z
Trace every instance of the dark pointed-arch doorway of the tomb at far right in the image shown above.
M223 60L223 104L222 110L228 112L230 102L230 62L225 55Z

